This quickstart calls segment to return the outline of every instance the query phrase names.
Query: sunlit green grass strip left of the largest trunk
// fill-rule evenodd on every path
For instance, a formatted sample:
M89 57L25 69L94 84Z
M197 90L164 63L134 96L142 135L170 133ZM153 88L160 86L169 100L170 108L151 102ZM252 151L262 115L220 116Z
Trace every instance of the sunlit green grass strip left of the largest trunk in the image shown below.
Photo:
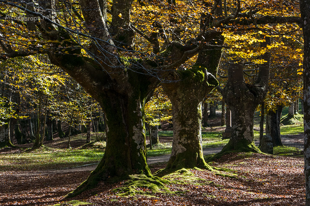
M41 148L32 152L0 154L0 170L48 170L99 162L104 151Z

